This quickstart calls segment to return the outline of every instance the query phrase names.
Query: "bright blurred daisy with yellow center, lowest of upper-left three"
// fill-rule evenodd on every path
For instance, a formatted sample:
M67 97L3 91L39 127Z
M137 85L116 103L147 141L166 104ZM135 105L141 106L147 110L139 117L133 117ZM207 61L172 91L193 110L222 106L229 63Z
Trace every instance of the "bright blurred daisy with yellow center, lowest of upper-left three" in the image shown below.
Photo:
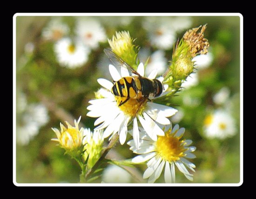
M87 46L78 40L72 42L70 38L59 40L54 46L54 51L60 65L69 68L76 68L85 64L90 53Z

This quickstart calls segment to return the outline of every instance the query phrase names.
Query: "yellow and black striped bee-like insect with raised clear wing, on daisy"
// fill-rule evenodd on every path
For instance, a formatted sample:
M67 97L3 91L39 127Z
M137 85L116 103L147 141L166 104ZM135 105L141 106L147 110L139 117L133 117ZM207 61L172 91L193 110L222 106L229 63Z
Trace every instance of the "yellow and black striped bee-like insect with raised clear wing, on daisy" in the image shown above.
M113 82L111 93L117 98L121 98L118 106L122 106L128 102L129 99L136 99L139 103L143 103L148 98L158 97L163 92L163 85L159 80L150 80L142 77L131 66L117 56L113 51L104 49L108 58L114 65L121 65L131 73L131 76L123 77L118 81ZM132 74L135 74L132 76Z

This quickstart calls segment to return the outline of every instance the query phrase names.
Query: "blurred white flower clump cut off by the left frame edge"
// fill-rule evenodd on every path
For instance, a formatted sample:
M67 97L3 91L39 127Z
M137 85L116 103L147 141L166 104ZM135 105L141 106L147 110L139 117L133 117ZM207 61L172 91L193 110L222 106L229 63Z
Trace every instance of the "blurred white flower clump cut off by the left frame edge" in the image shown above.
M17 93L16 114L16 141L20 145L27 145L49 120L47 108L40 103L27 104L26 96L21 92Z

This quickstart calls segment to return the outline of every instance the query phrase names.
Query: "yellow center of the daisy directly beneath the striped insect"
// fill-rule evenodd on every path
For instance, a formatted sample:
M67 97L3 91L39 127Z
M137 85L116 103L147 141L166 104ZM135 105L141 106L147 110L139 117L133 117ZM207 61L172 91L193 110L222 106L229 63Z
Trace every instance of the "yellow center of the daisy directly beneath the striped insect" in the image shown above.
M127 99L127 97L116 96L115 99L116 99L117 105L120 105L122 102L124 102ZM147 103L147 100L138 101L137 99L130 98L125 103L123 103L121 106L118 106L118 107L121 109L121 111L125 115L133 117L137 114L141 114L146 103Z

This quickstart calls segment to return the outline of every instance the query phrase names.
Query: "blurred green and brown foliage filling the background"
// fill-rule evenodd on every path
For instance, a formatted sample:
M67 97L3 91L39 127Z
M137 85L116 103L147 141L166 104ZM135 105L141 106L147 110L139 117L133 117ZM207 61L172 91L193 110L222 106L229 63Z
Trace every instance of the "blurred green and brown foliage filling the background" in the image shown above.
M96 17L97 18L97 17ZM103 18L98 17L103 21ZM118 17L110 17L112 23ZM89 55L88 62L79 68L69 69L59 66L53 50L53 41L45 41L41 37L42 28L51 17L18 16L16 18L16 90L26 94L28 103L41 102L47 109L49 121L40 128L40 132L28 145L16 145L16 181L18 183L77 183L80 167L64 150L51 141L55 133L51 127L58 127L67 120L74 124L74 119L82 116L83 126L94 128L94 119L86 117L88 100L94 98L94 92L100 88L97 78L104 74L99 70L99 62L105 56L103 49L109 47L108 42ZM128 30L136 45L150 47L151 52L157 50L150 46L147 31L141 26L143 17L134 17L127 25L103 24L108 38L115 31ZM74 33L75 18L63 17L63 21ZM179 125L186 128L184 137L193 140L196 165L193 183L238 183L240 181L240 18L238 16L201 16L192 17L191 27L208 24L205 37L209 40L210 51L214 60L208 68L200 70L199 84L184 89L172 99L174 107L182 108L183 119ZM185 31L177 36L182 38ZM177 37L177 38L178 38ZM32 54L24 52L24 46L33 42ZM165 51L171 60L172 49ZM102 66L106 67L107 66ZM223 86L229 87L229 100L233 103L232 114L236 119L237 133L234 137L219 140L202 136L203 119L207 110L218 108L212 97ZM183 103L183 96L189 95L198 99L199 104L189 106ZM18 117L18 116L17 116ZM18 120L18 119L17 119ZM112 149L112 157L129 159L134 154L125 144L117 144ZM136 173L145 171L145 166L138 166ZM100 182L100 179L95 182ZM136 182L133 180L133 182ZM163 176L156 182L163 182ZM190 183L181 173L176 172L176 182Z

